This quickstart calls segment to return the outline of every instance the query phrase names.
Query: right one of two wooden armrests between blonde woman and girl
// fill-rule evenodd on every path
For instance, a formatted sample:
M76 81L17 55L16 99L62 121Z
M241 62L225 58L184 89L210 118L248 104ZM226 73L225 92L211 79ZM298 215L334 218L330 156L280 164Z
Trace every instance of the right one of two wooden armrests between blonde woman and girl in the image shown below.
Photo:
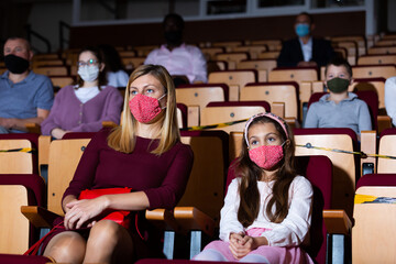
M195 207L176 207L174 216L185 230L201 230L209 237L215 232L215 220Z

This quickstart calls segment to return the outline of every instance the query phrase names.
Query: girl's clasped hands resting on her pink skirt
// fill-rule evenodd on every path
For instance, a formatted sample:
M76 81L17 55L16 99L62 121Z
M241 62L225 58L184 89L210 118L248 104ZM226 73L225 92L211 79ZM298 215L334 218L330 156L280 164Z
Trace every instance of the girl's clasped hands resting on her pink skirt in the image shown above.
M230 251L232 255L240 260L261 245L267 245L268 241L264 237L253 238L243 232L230 234Z

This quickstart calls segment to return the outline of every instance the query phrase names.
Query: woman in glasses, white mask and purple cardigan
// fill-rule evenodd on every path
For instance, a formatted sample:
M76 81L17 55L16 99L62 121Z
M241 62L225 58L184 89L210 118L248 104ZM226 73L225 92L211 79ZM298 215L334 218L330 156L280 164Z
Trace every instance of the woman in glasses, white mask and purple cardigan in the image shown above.
M102 121L120 123L122 96L106 86L105 63L98 48L87 47L78 57L78 84L62 88L55 97L42 133L62 139L68 131L97 132Z

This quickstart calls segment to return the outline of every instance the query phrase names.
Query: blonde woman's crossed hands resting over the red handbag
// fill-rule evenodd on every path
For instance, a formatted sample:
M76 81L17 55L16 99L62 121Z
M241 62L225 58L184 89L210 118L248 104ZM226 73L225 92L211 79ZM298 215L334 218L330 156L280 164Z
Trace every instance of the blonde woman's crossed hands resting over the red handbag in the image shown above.
M106 196L100 196L95 199L77 200L72 199L65 205L65 220L66 230L79 229L84 223L92 227L96 221L92 219L99 216L108 208L108 199Z

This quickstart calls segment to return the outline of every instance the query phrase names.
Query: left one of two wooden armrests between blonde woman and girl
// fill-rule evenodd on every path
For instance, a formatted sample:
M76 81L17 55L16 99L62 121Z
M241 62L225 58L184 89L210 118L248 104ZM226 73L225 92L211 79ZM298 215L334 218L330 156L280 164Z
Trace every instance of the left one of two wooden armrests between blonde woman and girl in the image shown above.
M158 208L146 210L145 218L161 230L174 230L175 232L186 233L174 218L173 211Z

